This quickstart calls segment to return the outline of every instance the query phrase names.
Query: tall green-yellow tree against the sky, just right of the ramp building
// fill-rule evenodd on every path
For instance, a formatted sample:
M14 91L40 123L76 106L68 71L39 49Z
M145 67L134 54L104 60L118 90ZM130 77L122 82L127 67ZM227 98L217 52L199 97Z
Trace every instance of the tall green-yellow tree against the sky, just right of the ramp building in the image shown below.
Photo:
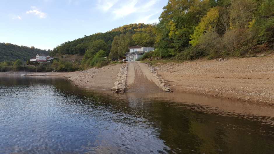
M169 0L157 24L157 49L171 56L188 47L190 35L210 6L208 0Z

